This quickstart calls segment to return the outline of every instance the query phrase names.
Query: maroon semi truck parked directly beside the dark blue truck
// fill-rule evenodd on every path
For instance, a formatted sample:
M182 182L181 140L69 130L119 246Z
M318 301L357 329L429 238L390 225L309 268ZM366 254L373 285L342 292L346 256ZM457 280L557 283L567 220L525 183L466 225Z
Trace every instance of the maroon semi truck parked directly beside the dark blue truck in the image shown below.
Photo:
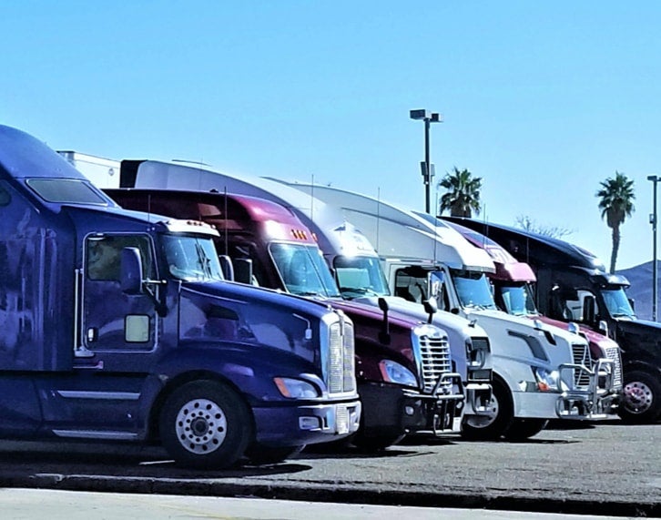
M106 189L126 209L207 222L234 280L327 301L354 323L361 428L353 443L380 449L407 433L458 432L463 382L447 335L429 323L345 301L315 238L289 209L255 197L170 189ZM385 303L385 302L384 302Z

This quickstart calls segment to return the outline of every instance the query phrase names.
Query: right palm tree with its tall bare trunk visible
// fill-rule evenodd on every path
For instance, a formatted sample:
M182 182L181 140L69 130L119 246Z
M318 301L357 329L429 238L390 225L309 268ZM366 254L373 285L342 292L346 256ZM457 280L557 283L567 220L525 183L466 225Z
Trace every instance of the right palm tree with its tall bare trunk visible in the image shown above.
M620 226L634 212L634 181L625 174L615 171L615 178L606 178L600 182L601 189L596 192L599 198L601 218L605 217L608 227L613 229L613 252L611 253L611 272L615 272L617 251L620 249Z

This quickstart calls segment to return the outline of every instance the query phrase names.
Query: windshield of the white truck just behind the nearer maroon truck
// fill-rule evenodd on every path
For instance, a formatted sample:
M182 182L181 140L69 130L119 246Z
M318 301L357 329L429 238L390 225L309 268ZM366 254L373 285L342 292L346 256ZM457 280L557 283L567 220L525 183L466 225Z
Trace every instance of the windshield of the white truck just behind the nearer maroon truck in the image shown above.
M335 257L333 267L344 298L390 296L388 282L377 257Z

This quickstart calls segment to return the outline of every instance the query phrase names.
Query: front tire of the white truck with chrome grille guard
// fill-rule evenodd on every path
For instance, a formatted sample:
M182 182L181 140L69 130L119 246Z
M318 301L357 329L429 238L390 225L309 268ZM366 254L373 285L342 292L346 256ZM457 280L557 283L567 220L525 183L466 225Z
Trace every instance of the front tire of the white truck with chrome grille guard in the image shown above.
M512 394L500 379L493 379L491 415L464 416L462 437L467 441L497 441L514 423Z

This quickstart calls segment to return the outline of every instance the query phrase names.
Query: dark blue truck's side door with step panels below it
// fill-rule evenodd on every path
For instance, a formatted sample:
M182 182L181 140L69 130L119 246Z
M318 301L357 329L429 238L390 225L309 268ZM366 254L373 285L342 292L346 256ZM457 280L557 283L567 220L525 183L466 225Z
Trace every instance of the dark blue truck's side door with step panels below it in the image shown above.
M145 274L154 255L147 235L89 236L78 275L74 373L44 403L47 426L64 437L127 440L141 426L141 396L158 355L160 318L147 294L120 287L120 251L140 250Z

